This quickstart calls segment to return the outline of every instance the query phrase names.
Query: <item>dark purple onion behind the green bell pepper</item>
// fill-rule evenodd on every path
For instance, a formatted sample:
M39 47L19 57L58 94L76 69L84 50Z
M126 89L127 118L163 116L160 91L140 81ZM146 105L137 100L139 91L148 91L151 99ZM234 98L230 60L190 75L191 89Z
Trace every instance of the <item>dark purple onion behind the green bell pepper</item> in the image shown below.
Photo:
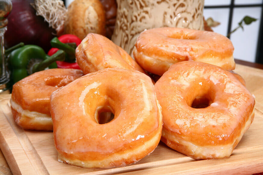
M36 10L30 5L33 0L12 0L13 9L8 16L5 32L5 47L9 48L19 42L39 45L46 52L51 48L50 40L56 31L49 27Z

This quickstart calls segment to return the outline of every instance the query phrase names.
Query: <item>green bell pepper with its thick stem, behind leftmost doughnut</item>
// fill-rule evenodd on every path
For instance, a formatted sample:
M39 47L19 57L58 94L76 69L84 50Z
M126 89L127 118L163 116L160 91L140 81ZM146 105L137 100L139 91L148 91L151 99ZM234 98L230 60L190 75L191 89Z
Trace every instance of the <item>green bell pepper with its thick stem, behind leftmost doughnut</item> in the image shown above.
M59 50L54 55L46 55L45 51L36 45L25 45L13 50L9 55L9 68L12 71L12 83L45 68L57 68L55 61L64 61L65 52Z

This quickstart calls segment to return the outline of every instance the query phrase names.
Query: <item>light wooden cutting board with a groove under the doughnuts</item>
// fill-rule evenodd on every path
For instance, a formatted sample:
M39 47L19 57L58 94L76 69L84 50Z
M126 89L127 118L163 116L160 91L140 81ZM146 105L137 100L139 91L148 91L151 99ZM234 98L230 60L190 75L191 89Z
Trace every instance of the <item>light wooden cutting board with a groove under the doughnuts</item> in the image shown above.
M255 119L229 158L196 161L162 142L136 164L100 169L57 161L52 132L26 131L14 122L9 100L0 95L0 148L14 174L252 174L263 172L263 70L237 65L249 91L256 96Z

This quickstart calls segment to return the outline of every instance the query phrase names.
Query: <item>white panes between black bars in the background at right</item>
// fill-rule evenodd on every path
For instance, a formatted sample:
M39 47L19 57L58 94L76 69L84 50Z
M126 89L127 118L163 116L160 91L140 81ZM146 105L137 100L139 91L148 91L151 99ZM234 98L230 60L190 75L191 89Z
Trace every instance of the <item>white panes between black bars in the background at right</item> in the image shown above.
M260 3L262 3L262 0L235 0L235 5ZM205 0L205 6L208 5L230 5L230 0ZM208 17L212 17L214 20L221 23L219 26L212 28L214 32L227 36L229 11L230 8L204 9L205 19L207 19ZM230 40L232 41L235 48L233 54L234 58L255 62L260 27L261 7L234 8L231 31L235 29L242 18L247 15L258 20L251 23L250 25L244 26L244 31L242 29L236 30L236 32L230 36Z

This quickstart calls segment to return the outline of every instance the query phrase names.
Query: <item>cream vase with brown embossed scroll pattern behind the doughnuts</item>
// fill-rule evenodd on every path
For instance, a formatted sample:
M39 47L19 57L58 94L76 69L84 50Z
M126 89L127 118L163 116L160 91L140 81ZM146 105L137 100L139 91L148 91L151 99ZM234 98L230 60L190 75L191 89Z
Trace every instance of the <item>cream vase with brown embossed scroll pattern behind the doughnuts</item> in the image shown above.
M112 41L130 55L139 34L157 27L203 30L204 0L117 0Z

